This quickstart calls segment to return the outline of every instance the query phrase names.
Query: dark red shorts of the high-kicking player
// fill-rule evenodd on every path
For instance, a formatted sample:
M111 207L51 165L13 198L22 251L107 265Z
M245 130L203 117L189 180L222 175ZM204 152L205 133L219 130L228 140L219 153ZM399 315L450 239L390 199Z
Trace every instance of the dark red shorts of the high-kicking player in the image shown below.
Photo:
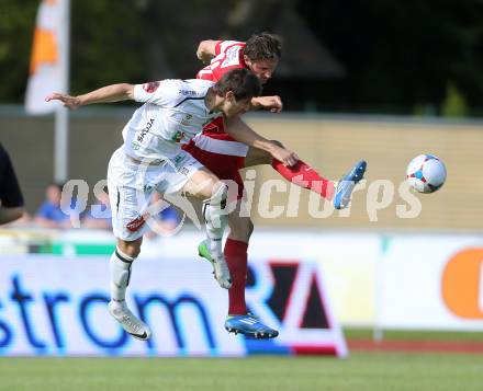
M238 170L245 166L245 157L209 152L198 148L193 140L183 146L183 150L190 153L222 181L229 180L235 182L237 185L236 199L242 199L244 193L244 181L242 180L242 175L239 174ZM231 188L229 198L233 199L232 197L235 197L235 193L232 193Z

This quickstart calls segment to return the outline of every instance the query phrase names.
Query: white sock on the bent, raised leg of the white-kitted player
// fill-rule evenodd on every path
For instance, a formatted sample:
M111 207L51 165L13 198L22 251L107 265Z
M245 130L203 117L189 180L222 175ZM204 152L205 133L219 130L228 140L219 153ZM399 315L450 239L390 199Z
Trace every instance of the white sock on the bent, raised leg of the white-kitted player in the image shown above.
M206 244L213 256L223 256L222 240L228 223L225 212L228 187L223 184L213 196L203 202L203 217L206 227Z

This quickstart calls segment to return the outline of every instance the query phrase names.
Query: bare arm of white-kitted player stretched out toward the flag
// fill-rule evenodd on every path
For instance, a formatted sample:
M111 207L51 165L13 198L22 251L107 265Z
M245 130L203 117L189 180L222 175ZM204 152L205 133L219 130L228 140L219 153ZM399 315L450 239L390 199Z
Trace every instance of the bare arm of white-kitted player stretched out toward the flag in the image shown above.
M87 104L109 103L134 100L134 85L127 83L111 84L87 94L71 96L68 94L53 93L45 97L45 101L60 101L65 107L77 108Z

